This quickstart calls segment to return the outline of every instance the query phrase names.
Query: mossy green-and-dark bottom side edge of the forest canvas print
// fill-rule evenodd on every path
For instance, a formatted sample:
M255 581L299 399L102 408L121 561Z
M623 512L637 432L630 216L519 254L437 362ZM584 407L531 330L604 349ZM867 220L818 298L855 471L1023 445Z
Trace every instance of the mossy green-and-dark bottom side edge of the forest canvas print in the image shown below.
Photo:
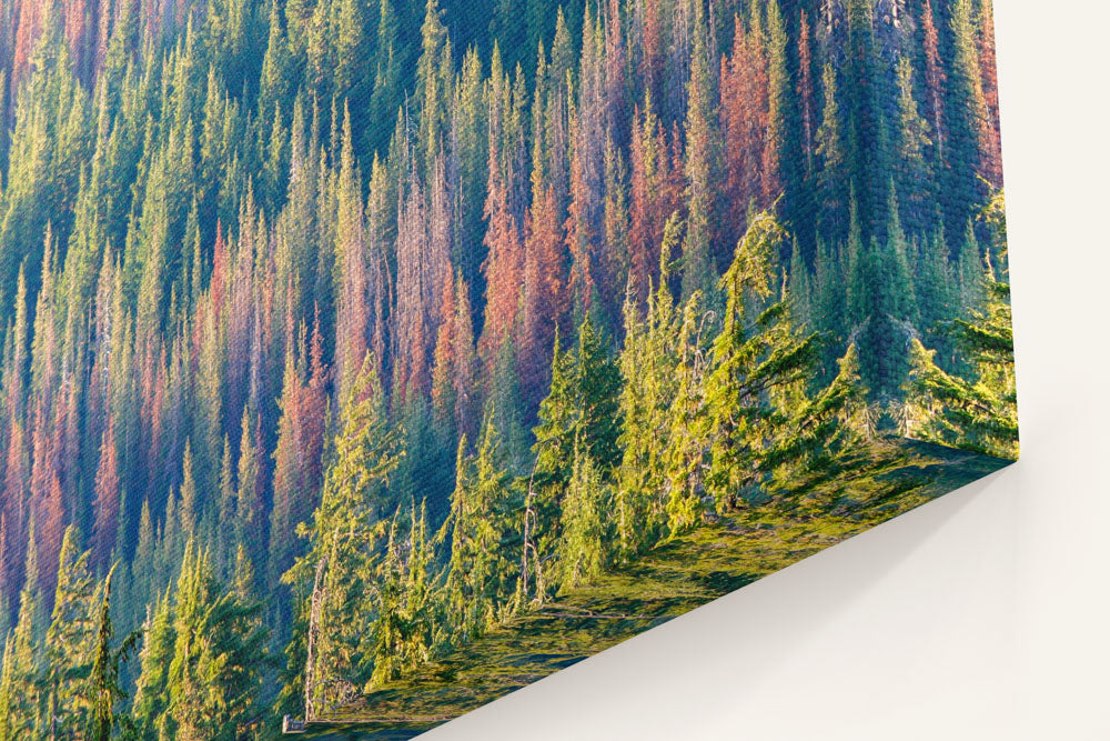
M1009 463L907 441L869 454L851 474L807 482L657 547L357 698L303 738L411 739Z

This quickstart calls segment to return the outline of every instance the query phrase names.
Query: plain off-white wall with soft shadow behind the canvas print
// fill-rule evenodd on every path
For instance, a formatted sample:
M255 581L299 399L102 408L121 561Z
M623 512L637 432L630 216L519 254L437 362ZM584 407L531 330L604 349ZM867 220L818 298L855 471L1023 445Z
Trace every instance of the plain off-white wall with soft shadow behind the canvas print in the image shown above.
M995 14L1021 461L428 741L1110 739L1110 8Z

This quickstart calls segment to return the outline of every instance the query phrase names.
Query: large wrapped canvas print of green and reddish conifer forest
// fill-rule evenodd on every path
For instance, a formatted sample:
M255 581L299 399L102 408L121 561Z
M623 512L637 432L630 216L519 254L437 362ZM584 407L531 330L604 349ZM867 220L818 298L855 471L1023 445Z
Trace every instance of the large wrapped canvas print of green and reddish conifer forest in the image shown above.
M0 0L0 741L408 739L1018 455L989 0Z

